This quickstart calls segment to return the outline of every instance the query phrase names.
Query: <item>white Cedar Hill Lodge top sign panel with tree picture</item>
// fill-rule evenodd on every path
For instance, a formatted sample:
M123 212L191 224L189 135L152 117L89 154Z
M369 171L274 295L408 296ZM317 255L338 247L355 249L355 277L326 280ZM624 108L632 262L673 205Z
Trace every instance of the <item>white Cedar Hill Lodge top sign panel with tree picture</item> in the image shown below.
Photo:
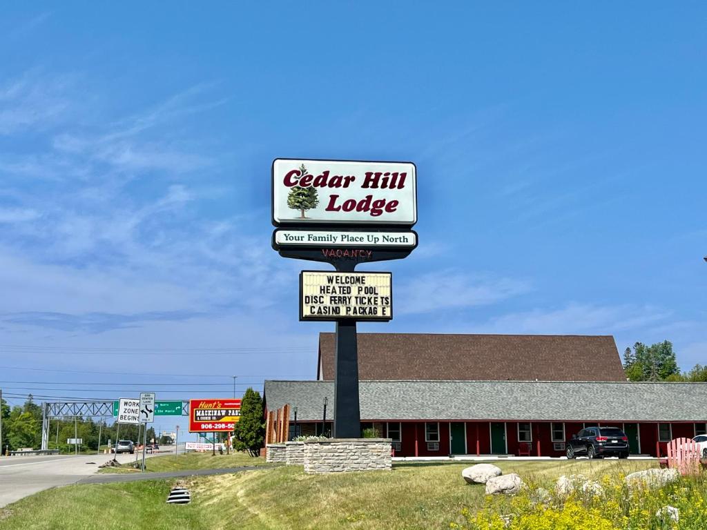
M277 158L272 177L276 226L405 228L417 220L413 163Z

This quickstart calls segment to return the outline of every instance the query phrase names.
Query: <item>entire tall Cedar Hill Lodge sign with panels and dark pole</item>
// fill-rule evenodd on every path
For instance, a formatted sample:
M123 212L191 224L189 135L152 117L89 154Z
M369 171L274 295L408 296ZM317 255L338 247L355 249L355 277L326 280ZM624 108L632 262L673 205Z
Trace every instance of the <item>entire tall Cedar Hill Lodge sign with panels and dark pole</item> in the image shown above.
M392 275L359 263L407 257L417 246L417 175L410 162L299 160L272 164L272 247L336 271L300 273L300 320L336 322L334 432L361 436L356 322L392 319Z

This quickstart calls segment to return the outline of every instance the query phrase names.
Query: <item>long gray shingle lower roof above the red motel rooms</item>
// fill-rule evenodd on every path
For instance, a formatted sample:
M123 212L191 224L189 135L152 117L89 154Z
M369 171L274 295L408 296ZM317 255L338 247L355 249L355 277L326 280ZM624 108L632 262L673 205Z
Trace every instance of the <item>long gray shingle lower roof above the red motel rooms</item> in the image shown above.
M707 383L362 381L362 420L707 421ZM334 383L266 381L267 408L334 416Z

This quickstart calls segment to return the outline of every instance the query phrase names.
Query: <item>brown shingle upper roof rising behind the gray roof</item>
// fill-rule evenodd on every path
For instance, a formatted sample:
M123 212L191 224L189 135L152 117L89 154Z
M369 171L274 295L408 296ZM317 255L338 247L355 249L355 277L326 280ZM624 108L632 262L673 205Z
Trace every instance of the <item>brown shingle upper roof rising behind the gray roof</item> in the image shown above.
M334 334L317 379L334 379ZM626 381L612 336L358 334L361 380Z

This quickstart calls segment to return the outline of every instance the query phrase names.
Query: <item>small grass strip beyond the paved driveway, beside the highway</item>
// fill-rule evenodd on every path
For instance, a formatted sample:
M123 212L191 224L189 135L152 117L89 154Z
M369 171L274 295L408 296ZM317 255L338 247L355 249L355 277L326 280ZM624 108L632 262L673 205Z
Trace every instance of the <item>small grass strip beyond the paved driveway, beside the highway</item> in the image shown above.
M141 461L141 457L139 458ZM145 460L146 471L158 473L160 471L182 471L185 469L217 469L240 466L267 466L264 458L252 458L245 453L218 454L187 453L166 454L163 457L150 457ZM103 468L100 473L136 473L128 464L119 468Z

